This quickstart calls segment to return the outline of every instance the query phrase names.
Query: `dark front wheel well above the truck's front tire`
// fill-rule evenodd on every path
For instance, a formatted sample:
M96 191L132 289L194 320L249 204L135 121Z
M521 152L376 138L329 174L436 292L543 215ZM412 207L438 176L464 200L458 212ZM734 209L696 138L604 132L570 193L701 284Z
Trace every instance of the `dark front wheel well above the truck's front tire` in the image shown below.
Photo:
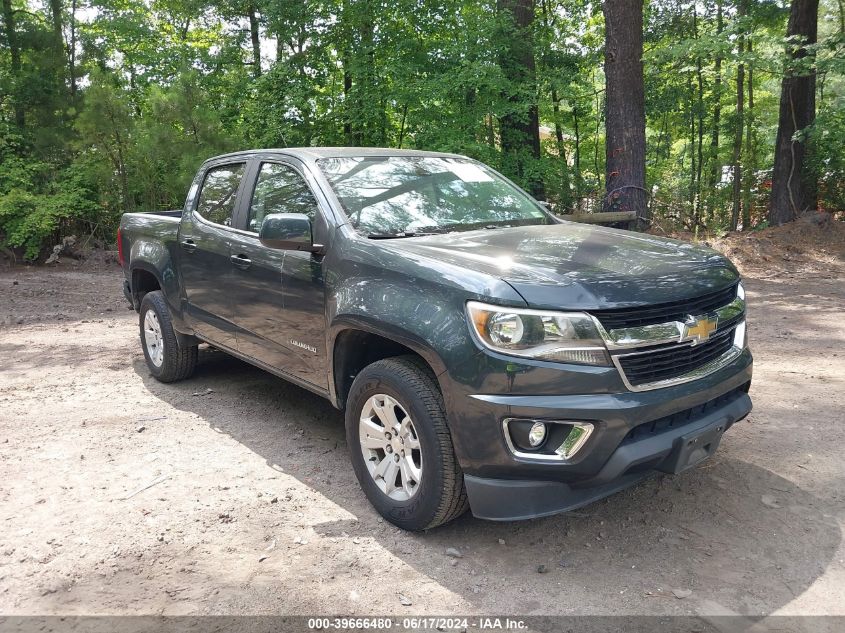
M416 356L431 370L428 361L420 354L389 338L363 330L344 330L338 334L334 342L334 354L332 356L338 406L345 406L349 390L352 388L352 382L364 367L394 356ZM435 376L433 370L432 376Z

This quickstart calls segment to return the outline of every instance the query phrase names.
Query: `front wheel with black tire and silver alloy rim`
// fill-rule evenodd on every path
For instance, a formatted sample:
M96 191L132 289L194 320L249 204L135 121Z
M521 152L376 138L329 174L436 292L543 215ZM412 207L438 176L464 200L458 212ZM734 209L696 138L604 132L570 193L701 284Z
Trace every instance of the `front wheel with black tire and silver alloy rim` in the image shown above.
M389 425L382 422L381 416L398 421L394 428L400 429L401 437L392 433L386 439L386 433L381 431ZM368 422L365 424L362 418ZM380 360L356 376L346 406L346 439L364 493L375 509L397 527L426 530L447 523L468 509L464 476L452 447L443 395L419 358ZM376 448L380 442L382 449ZM399 469L398 478L395 473L392 475L393 484L400 485L388 494L393 471L383 460L390 458L396 460ZM386 469L382 468L385 463ZM387 472L387 476L379 470ZM419 478L415 485L411 473Z

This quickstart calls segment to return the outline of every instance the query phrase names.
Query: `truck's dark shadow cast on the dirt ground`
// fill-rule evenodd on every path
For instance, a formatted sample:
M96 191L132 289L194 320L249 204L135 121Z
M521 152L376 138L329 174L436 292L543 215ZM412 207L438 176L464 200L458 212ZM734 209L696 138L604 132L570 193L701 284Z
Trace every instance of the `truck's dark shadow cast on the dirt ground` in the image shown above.
M134 369L161 400L357 517L318 532L371 531L392 554L485 612L578 613L573 599L587 592L594 604L671 613L679 608L672 590L680 588L710 610L768 614L821 576L840 543L829 502L743 460L730 437L741 431L732 430L713 459L683 475L658 476L579 512L534 521L490 523L467 514L415 535L419 549L409 555L395 534L376 529L378 517L346 467L343 415L328 401L205 348L189 381L158 383L142 360ZM192 395L205 389L213 397ZM447 547L464 553L463 573L450 567ZM559 594L549 590L552 581Z

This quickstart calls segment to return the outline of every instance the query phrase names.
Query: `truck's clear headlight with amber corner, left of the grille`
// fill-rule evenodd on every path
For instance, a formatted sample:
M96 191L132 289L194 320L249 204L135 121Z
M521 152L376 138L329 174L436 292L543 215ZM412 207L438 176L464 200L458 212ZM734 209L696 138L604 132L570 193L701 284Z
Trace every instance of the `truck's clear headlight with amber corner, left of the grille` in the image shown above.
M481 343L502 354L561 363L610 365L593 320L582 312L508 309L470 301L467 314Z

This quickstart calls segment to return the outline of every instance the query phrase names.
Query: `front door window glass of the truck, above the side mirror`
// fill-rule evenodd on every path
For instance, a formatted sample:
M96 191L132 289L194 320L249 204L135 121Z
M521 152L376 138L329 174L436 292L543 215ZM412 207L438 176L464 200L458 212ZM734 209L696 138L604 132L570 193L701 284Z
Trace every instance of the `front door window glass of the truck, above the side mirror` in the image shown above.
M295 169L279 163L263 163L249 205L247 229L258 233L264 218L273 213L304 213L313 222L317 201Z

